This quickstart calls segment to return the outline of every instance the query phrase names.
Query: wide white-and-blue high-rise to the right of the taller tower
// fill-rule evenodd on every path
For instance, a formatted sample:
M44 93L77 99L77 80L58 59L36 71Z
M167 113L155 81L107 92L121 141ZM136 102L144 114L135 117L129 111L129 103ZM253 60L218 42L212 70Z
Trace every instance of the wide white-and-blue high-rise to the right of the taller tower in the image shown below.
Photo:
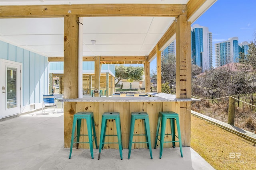
M238 37L232 37L227 41L215 44L216 67L228 63L237 63L239 55Z

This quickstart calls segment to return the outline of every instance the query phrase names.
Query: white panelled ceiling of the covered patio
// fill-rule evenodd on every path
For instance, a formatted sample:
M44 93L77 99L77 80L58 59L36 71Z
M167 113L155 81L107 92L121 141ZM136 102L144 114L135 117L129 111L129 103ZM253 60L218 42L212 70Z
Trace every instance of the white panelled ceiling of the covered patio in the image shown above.
M187 4L189 0L0 0L0 5ZM215 0L210 0L215 1ZM149 55L173 17L84 17L83 56ZM46 57L64 56L64 18L0 19L0 40ZM91 40L95 40L93 45Z

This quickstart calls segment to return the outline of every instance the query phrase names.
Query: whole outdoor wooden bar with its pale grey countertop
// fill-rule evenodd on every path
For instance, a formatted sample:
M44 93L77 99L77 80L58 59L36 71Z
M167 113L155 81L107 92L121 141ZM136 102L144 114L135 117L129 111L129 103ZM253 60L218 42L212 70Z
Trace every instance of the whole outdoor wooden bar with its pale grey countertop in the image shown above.
M149 115L150 135L152 147L154 147L156 136L156 125L159 111L174 111L179 114L182 136L182 146L190 146L191 110L182 110L182 106L191 105L197 99L177 99L175 95L165 93L148 93L150 97L84 97L77 99L62 99L64 102L64 145L70 147L73 115L80 111L91 111L94 113L97 143L100 141L101 119L104 112L119 112L122 131L123 148L128 148L131 112L145 111ZM66 108L69 108L68 110ZM144 134L144 122L136 120L135 134ZM170 122L167 122L166 133L171 133ZM86 121L82 120L81 134L87 134ZM108 121L106 135L116 134L115 122ZM187 137L189 135L189 137ZM80 137L80 141L88 141L88 137ZM145 141L145 136L134 136L133 141ZM165 140L171 140L171 135L165 136ZM105 141L117 142L117 137L106 137ZM159 141L158 141L159 144ZM178 143L176 143L178 147ZM89 144L80 143L79 147L89 148ZM158 146L157 146L158 147ZM172 143L164 143L164 147L172 147ZM94 148L95 144L94 144ZM105 144L104 148L118 149L118 144ZM135 143L132 148L146 148L145 143Z

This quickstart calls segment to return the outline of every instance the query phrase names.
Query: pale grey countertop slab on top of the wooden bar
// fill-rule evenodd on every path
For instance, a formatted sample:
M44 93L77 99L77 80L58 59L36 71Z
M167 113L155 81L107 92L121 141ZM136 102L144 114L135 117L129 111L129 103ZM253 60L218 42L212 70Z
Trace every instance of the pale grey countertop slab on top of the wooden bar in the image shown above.
M60 102L192 102L194 98L179 99L166 93L148 93L154 97L84 97L76 99L60 99Z

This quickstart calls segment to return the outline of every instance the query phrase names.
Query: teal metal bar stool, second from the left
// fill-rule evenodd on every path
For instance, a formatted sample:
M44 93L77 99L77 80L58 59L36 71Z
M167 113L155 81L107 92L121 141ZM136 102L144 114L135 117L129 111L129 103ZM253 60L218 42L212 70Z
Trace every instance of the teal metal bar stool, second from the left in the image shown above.
M106 127L108 119L114 119L116 121L116 133L117 135L106 135ZM106 136L117 136L118 142L105 142ZM120 113L119 112L105 112L102 115L102 122L101 122L101 130L100 130L100 149L98 159L100 159L100 151L104 147L104 143L118 143L119 144L119 152L120 157L123 159L122 156L122 134L121 134L121 124L120 124Z

